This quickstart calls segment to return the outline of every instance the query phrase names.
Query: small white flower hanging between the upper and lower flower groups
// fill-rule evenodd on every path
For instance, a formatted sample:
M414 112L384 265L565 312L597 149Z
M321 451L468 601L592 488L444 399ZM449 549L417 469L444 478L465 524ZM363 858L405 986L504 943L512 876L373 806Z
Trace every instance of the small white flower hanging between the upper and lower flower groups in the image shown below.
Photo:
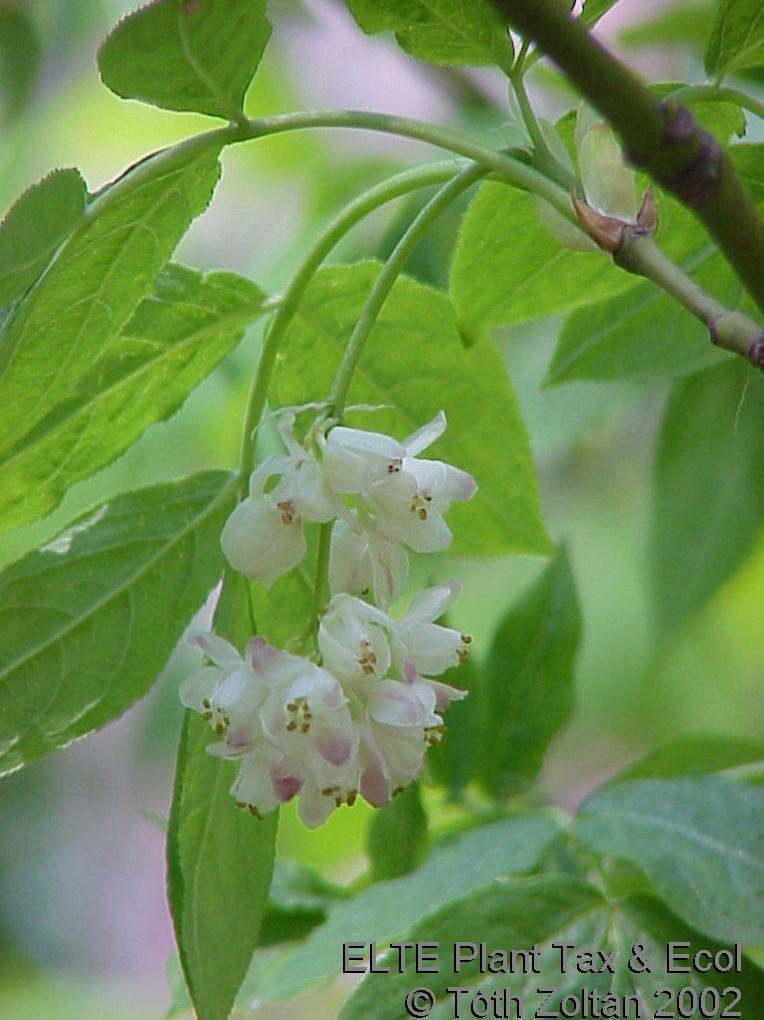
M403 595L408 581L408 554L369 519L351 526L338 520L332 532L329 588L332 594L373 595L377 606L389 606ZM356 529L357 528L357 529Z

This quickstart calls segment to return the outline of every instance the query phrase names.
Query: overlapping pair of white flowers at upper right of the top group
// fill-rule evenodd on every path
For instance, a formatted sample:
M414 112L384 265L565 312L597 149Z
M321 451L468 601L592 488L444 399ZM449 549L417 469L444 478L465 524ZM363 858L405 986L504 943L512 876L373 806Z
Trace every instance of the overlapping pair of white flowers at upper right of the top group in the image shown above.
M443 411L403 443L338 426L324 444L325 477L335 492L365 496L389 539L419 553L445 549L451 531L443 515L452 502L469 499L476 489L466 471L418 458L445 430Z

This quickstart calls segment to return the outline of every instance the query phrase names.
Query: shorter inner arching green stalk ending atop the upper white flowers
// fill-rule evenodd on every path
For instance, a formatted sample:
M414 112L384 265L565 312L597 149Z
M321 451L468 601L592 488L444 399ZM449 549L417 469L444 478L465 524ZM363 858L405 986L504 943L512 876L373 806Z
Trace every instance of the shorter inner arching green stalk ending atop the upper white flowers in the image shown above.
M467 188L476 181L479 181L480 177L486 176L488 170L486 167L479 165L469 166L462 170L461 173L441 188L429 202L427 202L394 248L381 272L376 277L371 294L368 296L363 311L355 324L355 328L348 341L348 346L345 348L340 367L337 370L335 382L328 398L330 413L334 417L342 417L353 372L358 365L363 345L366 343L374 326L374 322L388 299L388 295L393 289L393 285L411 258L414 248L419 243L419 239L444 209L451 205Z

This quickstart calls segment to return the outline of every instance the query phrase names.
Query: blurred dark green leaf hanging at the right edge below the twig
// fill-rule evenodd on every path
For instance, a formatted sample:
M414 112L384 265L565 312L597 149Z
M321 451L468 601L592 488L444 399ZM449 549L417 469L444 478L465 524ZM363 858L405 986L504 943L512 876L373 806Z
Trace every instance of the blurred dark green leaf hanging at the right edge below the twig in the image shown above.
M764 523L764 379L733 361L674 387L656 454L651 558L670 633L749 555Z

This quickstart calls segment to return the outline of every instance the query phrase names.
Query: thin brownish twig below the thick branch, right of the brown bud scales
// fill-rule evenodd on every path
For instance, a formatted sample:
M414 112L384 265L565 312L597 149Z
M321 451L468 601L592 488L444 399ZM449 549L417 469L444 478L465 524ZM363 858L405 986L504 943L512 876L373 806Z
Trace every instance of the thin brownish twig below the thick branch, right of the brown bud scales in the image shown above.
M707 294L663 254L651 235L639 227L626 227L613 261L628 272L652 279L670 294L708 327L717 347L757 363L764 344L761 326L748 315L731 311Z

